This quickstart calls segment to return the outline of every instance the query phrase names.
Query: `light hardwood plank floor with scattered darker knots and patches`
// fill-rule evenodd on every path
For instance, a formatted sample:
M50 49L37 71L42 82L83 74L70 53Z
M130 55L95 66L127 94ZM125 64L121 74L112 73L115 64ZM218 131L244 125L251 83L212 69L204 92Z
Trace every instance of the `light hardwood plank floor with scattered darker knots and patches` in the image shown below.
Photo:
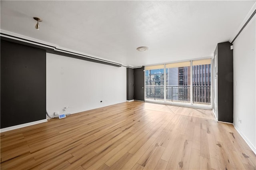
M1 133L1 169L256 169L212 111L126 102Z

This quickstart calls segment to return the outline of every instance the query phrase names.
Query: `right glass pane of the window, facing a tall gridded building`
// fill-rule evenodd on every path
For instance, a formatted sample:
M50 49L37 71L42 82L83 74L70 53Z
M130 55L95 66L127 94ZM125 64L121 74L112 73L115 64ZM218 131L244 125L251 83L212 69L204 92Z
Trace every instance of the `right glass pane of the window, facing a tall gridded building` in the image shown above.
M210 105L211 64L195 65L193 61L192 74L193 103Z

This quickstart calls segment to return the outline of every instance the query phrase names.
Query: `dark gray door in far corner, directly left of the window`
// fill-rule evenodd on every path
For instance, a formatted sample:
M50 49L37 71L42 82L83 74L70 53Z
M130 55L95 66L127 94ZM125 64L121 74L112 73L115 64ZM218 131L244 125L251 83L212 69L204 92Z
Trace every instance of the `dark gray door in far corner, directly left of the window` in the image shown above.
M144 67L134 69L134 100L144 101Z

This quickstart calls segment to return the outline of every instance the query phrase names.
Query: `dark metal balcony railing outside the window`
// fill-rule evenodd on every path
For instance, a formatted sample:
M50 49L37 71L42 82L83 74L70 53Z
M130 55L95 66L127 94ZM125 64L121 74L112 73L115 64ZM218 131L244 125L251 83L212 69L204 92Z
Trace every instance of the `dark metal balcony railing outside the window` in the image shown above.
M146 99L164 100L164 86L146 85ZM210 86L193 86L193 103L210 104ZM190 102L190 86L166 86L166 101Z

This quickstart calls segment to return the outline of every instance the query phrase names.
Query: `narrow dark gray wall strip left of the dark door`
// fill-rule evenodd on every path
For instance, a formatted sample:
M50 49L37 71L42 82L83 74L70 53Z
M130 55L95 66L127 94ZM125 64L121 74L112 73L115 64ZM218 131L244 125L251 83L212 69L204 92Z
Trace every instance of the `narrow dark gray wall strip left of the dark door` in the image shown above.
M126 79L127 79L127 100L134 99L134 69L126 69Z

